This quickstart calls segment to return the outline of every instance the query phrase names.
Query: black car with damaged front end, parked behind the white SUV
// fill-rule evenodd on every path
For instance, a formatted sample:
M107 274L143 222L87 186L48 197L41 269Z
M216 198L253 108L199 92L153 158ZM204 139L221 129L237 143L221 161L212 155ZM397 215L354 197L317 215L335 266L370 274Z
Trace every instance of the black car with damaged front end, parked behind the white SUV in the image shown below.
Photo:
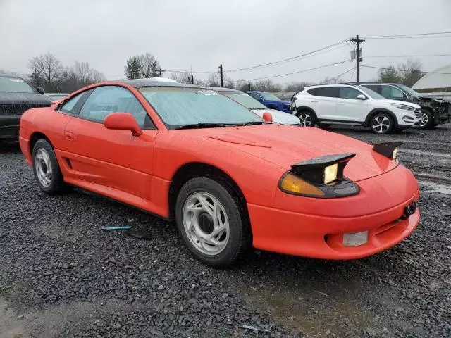
M423 96L400 83L360 82L359 84L381 94L385 99L419 104L421 115L417 118L420 119L421 129L430 129L441 123L451 122L451 102L449 101Z

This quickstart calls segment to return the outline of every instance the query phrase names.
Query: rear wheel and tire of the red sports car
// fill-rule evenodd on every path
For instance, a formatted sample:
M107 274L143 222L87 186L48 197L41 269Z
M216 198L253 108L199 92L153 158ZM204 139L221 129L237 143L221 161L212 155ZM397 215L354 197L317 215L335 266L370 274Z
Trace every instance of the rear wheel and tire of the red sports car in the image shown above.
M48 195L66 192L68 186L63 181L53 147L46 139L39 139L33 146L33 172L37 184Z

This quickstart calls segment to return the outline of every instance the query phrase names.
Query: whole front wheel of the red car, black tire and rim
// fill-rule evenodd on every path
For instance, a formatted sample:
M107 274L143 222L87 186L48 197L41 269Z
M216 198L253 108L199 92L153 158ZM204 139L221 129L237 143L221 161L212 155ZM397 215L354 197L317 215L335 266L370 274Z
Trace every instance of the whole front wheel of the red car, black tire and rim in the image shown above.
M177 196L178 232L193 256L207 265L230 265L249 248L249 225L234 195L226 184L196 177Z

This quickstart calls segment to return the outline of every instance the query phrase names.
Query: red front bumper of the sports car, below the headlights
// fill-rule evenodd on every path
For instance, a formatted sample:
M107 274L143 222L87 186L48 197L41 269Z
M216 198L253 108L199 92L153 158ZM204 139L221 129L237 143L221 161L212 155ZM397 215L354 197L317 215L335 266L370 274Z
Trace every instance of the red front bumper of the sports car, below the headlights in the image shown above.
M248 204L254 247L266 251L323 259L356 259L394 246L419 224L420 213L402 219L404 208L419 198L417 192L404 203L380 213L354 218L305 215ZM254 226L255 225L255 226ZM368 231L368 242L343 245L343 234Z

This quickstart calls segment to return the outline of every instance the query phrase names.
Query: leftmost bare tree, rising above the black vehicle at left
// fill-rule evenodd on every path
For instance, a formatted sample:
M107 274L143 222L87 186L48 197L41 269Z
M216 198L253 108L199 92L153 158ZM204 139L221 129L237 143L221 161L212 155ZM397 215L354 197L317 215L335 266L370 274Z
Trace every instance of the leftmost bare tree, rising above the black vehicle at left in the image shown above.
M54 54L47 53L31 58L28 63L30 72L37 72L42 77L47 89L55 90L63 77L63 65Z

